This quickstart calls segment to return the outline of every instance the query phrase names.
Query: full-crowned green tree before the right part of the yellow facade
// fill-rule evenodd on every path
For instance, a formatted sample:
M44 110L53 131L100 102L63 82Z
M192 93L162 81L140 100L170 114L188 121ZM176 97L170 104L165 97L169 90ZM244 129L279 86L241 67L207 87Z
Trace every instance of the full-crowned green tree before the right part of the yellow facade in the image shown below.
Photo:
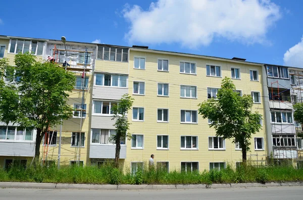
M246 161L249 151L250 138L261 129L258 112L252 113L252 98L250 95L242 97L237 93L231 79L222 80L217 99L209 99L199 104L198 112L203 118L212 121L210 127L216 129L216 136L223 139L233 139L242 148L242 161Z

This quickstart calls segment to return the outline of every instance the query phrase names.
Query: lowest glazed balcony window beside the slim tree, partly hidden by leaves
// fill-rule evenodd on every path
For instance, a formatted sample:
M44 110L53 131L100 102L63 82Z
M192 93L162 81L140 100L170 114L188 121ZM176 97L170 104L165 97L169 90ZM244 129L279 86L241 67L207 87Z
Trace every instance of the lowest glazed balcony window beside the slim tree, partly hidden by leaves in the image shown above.
M116 135L114 129L91 128L91 143L94 144L113 144L109 139ZM121 145L125 144L125 140L121 140Z

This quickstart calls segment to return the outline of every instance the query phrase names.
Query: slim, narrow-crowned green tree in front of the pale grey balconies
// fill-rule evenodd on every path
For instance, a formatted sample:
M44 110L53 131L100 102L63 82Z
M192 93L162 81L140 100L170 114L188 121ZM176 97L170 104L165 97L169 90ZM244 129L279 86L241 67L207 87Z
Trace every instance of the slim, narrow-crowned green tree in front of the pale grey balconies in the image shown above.
M124 94L120 99L117 105L112 107L113 118L112 120L116 120L114 126L116 127L116 135L110 138L110 141L113 141L116 144L116 154L115 154L115 166L119 167L119 159L120 159L120 150L121 150L121 141L125 141L126 139L131 139L131 134L127 134L127 130L129 129L130 123L127 120L128 110L132 107L133 98L128 94Z

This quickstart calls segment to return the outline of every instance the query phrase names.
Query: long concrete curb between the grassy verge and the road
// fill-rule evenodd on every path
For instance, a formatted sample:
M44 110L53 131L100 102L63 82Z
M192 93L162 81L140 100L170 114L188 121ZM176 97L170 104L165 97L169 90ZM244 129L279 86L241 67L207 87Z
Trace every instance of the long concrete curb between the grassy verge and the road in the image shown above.
M303 186L303 182L285 183L228 183L228 184L189 184L189 185L98 185L69 183L31 183L31 182L0 182L1 188L43 188L43 189L97 189L97 190L138 190L138 189L207 189L235 187L273 187L273 186Z

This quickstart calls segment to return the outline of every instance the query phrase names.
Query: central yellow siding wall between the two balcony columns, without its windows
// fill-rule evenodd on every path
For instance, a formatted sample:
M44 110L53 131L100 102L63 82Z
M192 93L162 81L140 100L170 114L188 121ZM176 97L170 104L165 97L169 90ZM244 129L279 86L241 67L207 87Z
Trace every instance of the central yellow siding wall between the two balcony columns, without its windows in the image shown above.
M134 69L134 57L145 58L145 70ZM169 60L169 72L158 71L158 58ZM181 74L180 61L190 61L196 64L196 75ZM222 77L209 77L206 72L207 64L221 66ZM244 62L222 61L217 59L205 59L190 56L170 55L167 53L149 53L130 50L129 94L134 98L133 107L144 107L144 121L133 121L132 111L128 115L131 122L131 134L144 136L143 149L132 149L131 141L127 141L127 158L125 166L131 167L131 162L144 162L148 165L151 154L155 155L156 162L169 162L169 170L180 170L181 162L198 162L199 171L209 170L210 162L226 162L226 165L235 166L235 162L242 160L240 150L235 150L235 144L231 140L225 142L225 150L209 150L209 137L216 132L209 127L208 119L198 115L197 124L180 122L180 110L197 110L198 104L207 100L207 88L220 88L224 77L231 78L231 66L240 69L240 80L233 80L237 90L242 95L251 94L251 91L261 93L262 103L254 104L252 111L258 111L263 116L263 90L261 64L249 64ZM259 71L259 81L250 81L249 70ZM145 82L145 95L133 95L133 81ZM158 96L158 83L169 84L169 97ZM192 85L197 87L197 98L188 99L180 97L180 85ZM157 122L157 108L169 109L169 122ZM263 117L264 118L264 117ZM266 160L266 122L263 119L263 127L260 132L251 138L250 150L247 159ZM157 135L169 136L169 150L157 150ZM197 150L180 150L181 136L197 136ZM264 150L255 150L254 137L261 137L264 141ZM265 163L264 163L265 164Z

